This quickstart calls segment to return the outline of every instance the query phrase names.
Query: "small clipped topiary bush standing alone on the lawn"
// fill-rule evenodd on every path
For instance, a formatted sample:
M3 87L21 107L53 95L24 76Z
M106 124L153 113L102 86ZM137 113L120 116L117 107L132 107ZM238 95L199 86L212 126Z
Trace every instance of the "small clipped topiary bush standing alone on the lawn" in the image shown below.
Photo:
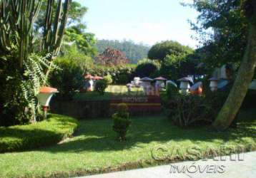
M113 130L117 132L118 139L120 141L126 140L127 131L131 125L129 120L128 106L125 103L121 103L117 106L117 112L112 115L114 122Z

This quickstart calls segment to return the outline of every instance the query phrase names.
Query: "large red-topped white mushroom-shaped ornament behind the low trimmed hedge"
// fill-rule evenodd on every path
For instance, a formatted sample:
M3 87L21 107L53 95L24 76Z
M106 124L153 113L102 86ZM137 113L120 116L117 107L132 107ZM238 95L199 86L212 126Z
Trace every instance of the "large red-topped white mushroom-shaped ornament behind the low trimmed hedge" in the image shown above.
M36 95L36 98L39 101L39 104L43 106L44 108L44 118L47 116L47 108L49 107L49 103L51 100L51 97L55 94L58 93L58 90L56 88L51 88L51 87L41 87L39 90L39 94Z

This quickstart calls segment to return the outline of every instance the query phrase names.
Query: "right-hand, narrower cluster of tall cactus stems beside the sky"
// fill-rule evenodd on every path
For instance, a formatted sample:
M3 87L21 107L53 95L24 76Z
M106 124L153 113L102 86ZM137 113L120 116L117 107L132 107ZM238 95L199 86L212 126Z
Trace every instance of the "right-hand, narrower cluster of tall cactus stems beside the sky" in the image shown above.
M71 2L72 0L65 0L63 4L61 0L58 0L55 17L53 17L54 0L47 1L47 13L44 23L43 50L46 53L51 53L52 57L59 53Z

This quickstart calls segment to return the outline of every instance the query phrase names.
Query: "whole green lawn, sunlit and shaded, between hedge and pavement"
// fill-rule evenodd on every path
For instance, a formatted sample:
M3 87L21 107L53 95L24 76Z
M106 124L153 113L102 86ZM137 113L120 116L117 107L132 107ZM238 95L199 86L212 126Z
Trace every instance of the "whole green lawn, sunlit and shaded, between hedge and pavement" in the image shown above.
M164 155L171 155L174 146L181 151L197 146L205 152L223 145L246 145L255 150L256 111L245 110L239 118L243 122L227 132L209 127L183 130L165 117L132 118L127 142L115 140L112 120L84 120L74 137L59 145L0 154L0 177L69 177L147 167L163 163L152 159L152 154L160 157L159 147L168 151Z

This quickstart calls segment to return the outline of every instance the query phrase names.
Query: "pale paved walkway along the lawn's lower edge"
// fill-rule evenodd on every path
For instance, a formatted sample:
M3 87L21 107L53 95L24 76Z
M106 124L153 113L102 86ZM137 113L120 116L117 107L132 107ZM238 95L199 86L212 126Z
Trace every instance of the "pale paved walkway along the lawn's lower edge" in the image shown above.
M240 156L240 157L238 157ZM218 159L219 161L217 161ZM225 159L225 157L222 157ZM175 169L176 168L176 169ZM184 172L177 173L177 168ZM176 173L173 170L176 170ZM124 172L113 172L108 174L99 174L87 178L166 178L166 177L230 177L230 178L255 178L256 177L256 152L248 152L244 155L232 155L221 161L220 157L208 160L199 160L197 162L180 162L159 167L150 167L145 169L134 169ZM86 178L86 177L84 177Z

